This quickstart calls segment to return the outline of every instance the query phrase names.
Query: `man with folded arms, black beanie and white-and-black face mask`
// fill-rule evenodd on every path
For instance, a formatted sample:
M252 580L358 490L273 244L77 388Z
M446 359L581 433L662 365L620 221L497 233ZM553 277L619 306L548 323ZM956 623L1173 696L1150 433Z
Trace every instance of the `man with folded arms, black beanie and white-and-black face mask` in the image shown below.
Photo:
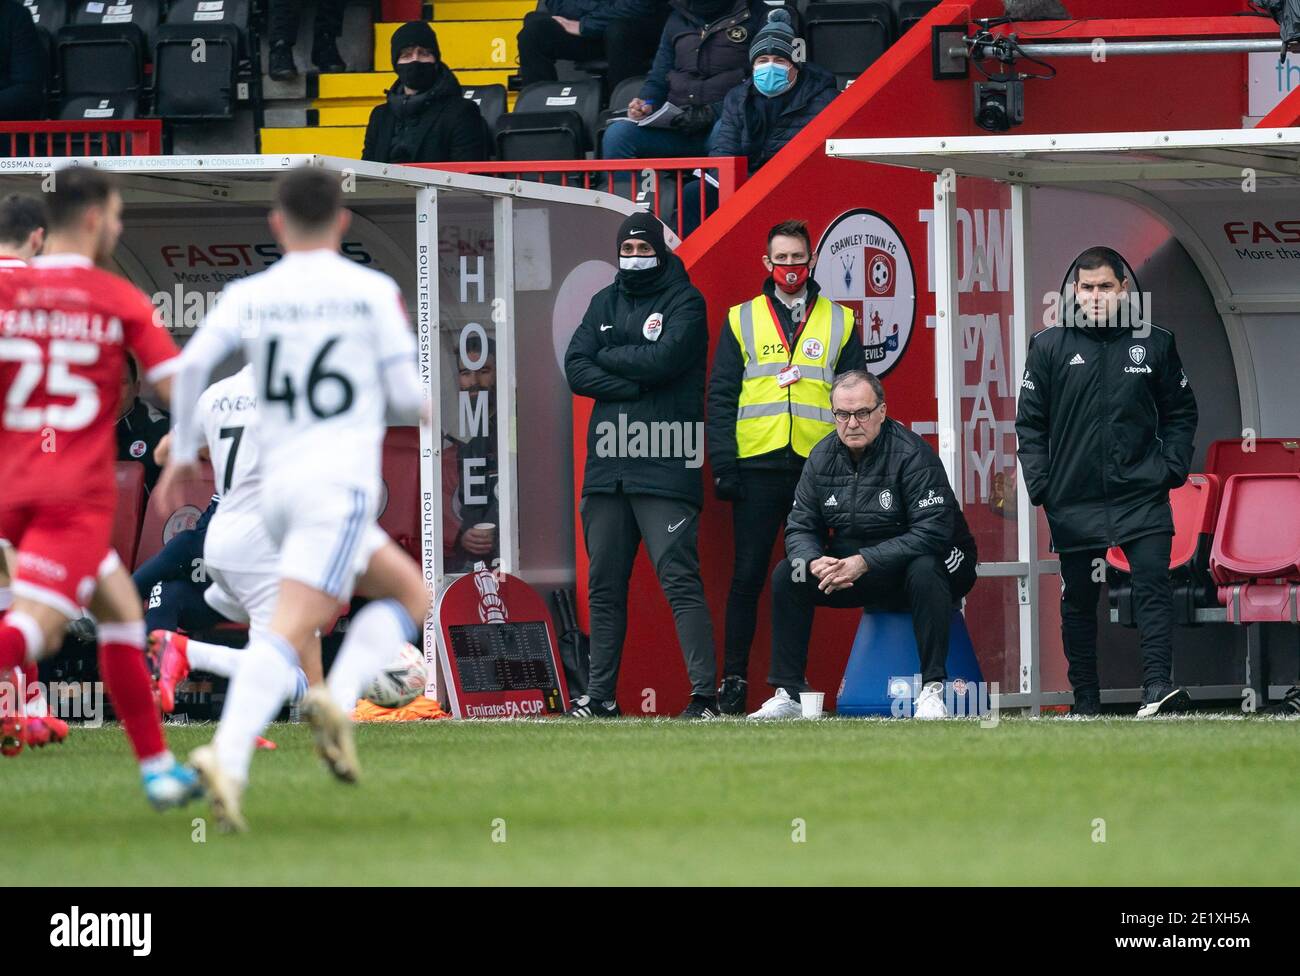
M696 548L703 504L705 299L668 251L663 225L647 213L619 227L618 261L614 283L592 299L564 356L569 389L595 400L580 508L592 677L568 713L619 715L628 578L645 542L690 677L681 717L714 719L718 661Z

